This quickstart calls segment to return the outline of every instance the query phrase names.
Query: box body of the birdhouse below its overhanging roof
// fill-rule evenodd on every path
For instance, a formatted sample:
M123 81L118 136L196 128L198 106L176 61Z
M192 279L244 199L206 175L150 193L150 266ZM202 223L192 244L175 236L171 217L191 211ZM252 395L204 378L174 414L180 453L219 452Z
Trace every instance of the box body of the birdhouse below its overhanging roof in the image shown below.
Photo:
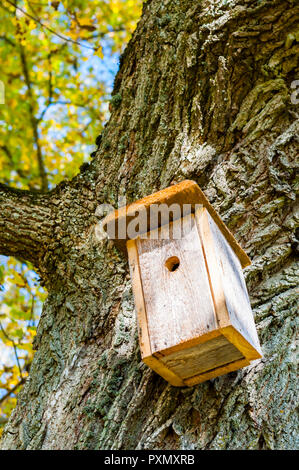
M249 339L255 325L241 268L237 279L228 277L225 291L223 277L240 262L227 243L234 258L226 258L218 233L207 209L200 208L127 242L141 355L172 385L194 385L260 357L257 336ZM224 272L223 264L229 263ZM236 329L238 315L242 331ZM245 334L247 325L251 330Z

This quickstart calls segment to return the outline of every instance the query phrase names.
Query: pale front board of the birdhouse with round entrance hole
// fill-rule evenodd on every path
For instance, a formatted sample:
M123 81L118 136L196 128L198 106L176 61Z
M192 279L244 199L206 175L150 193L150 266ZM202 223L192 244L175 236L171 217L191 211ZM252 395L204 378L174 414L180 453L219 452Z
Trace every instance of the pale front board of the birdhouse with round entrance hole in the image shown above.
M194 215L186 216L184 222L180 239L172 237L181 220L157 229L157 239L137 239L152 353L217 329ZM170 238L165 239L168 230ZM173 256L180 264L171 272L165 263Z

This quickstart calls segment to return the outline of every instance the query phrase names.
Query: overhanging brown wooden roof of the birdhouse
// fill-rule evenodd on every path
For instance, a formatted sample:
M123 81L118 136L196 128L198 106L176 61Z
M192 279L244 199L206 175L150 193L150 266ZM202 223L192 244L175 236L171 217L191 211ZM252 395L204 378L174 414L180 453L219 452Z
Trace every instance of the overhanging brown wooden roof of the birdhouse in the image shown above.
M150 194L143 199L139 199L132 204L123 206L118 210L111 212L103 220L103 228L112 234L115 228L115 235L111 236L111 239L115 241L116 245L126 253L126 237L127 237L127 227L128 224L136 217L136 213L140 210L145 210L146 213L146 229L145 232L153 229L154 227L150 226L150 207L153 204L166 204L171 206L172 204L178 204L181 208L184 204L191 205L191 212L194 212L196 204L202 204L209 212L210 216L213 218L215 224L218 226L223 236L226 238L238 258L240 259L241 265L243 267L248 266L251 261L247 254L242 250L241 246L235 240L232 233L226 227L224 222L221 220L213 206L209 203L208 199L195 183L195 181L185 180L176 185L170 186L166 189L162 189L154 194ZM187 213L185 213L187 215ZM162 221L162 224L165 221ZM166 221L168 223L168 220ZM118 226L124 227L124 238L118 236ZM159 226L160 226L159 225ZM123 236L123 235L121 235Z

